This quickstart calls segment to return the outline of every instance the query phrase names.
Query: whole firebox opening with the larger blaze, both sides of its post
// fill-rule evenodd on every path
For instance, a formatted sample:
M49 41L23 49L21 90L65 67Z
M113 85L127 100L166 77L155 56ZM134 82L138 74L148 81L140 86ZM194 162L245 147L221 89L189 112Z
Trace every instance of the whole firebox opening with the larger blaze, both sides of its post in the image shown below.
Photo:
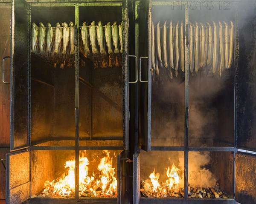
M116 156L119 153L120 151L112 150L80 151L80 197L117 197ZM43 162L42 155L51 161ZM35 170L32 174L33 197L75 196L76 164L73 151L35 150L32 166Z

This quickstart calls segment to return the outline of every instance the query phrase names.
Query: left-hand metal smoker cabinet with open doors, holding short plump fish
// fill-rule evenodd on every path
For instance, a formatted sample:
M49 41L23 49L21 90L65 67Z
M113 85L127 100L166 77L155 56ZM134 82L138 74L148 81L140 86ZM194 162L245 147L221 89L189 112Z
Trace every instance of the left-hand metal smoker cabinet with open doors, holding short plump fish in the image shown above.
M12 152L6 156L6 203L57 201L31 198L43 185L36 179L35 171L54 171L70 154L76 160L76 195L70 199L60 198L57 202L83 201L78 185L79 152L105 149L117 153L118 196L91 198L90 202L121 203L125 199L125 181L121 178L125 159L122 158L127 157L129 150L128 1L38 3L31 0L11 2ZM79 26L93 20L122 23L122 66L97 70L79 53ZM31 53L32 23L41 21L45 25L50 22L52 26L57 22L74 22L74 67L54 68ZM79 60L85 60L88 68L81 67ZM112 84L112 90L111 86L104 87L105 84ZM46 178L43 175L43 179Z

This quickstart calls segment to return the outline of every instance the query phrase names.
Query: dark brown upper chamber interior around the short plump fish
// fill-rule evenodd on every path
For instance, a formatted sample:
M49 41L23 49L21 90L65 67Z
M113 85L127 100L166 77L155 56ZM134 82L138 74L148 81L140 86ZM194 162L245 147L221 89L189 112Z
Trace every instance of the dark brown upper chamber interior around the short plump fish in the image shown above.
M47 15L45 15L47 13ZM37 25L75 22L75 7L33 7L31 22ZM79 26L86 21L102 25L122 22L121 6L80 6ZM80 29L79 29L80 33ZM81 38L80 38L81 45ZM80 145L122 146L122 65L95 68L92 57L79 54ZM31 56L31 143L75 144L75 67L54 67Z

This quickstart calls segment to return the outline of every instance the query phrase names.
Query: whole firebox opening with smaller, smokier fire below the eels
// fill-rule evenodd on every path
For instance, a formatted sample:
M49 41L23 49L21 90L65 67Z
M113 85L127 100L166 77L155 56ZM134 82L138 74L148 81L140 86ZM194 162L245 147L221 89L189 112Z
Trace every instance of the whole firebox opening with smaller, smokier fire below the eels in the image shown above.
M230 152L189 152L188 172L184 172L184 153L180 151L141 152L140 165L142 197L184 197L187 177L189 198L232 198Z

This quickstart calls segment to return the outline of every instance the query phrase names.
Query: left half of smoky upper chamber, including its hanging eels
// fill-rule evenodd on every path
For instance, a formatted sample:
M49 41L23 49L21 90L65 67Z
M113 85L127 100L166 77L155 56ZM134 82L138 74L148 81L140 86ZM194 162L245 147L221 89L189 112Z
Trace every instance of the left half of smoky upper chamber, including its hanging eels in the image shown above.
M166 2L167 3L167 2ZM184 16L185 7L166 6L165 3L155 6L152 2L152 22L154 23L154 43L155 43L155 67L156 72L152 75L152 100L151 100L151 146L184 146L184 66L181 67L179 50L174 49L175 44L184 46ZM170 12L171 11L171 12ZM172 30L170 31L170 21L172 20ZM183 26L181 22L183 21ZM157 23L160 22L160 58L157 57ZM166 22L166 38L163 37L163 25ZM169 34L172 32L172 38ZM166 40L165 40L166 39ZM169 43L169 40L172 43ZM181 41L180 41L181 39ZM182 42L182 43L180 43ZM170 46L172 45L172 46ZM172 50L171 50L172 49ZM165 54L166 51L166 54ZM176 52L177 51L177 52ZM177 53L177 55L176 55ZM169 57L172 56L172 57ZM182 56L182 55L180 55ZM174 58L173 58L174 57ZM158 59L157 59L158 58ZM171 60L172 58L172 60ZM180 57L181 59L181 57ZM157 61L158 60L158 64ZM184 53L183 53L184 60ZM175 63L177 61L177 63ZM159 75L157 71L159 69ZM167 68L166 68L167 66ZM174 67L171 68L171 67ZM176 68L175 68L176 67ZM153 68L154 69L154 68ZM177 71L176 71L177 69Z

